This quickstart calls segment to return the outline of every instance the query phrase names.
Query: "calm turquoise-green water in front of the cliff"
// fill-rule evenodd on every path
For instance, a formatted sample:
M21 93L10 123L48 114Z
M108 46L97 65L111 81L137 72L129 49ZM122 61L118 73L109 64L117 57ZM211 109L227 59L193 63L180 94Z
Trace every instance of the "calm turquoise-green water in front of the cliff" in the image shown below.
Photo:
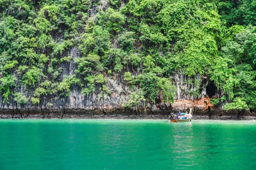
M255 169L256 122L0 120L0 169Z

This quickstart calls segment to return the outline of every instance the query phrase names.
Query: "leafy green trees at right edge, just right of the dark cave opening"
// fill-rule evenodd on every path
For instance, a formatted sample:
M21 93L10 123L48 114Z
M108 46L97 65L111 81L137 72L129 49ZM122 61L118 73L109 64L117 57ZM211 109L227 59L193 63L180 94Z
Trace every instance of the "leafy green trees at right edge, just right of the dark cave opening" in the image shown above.
M243 99L250 108L256 108L255 97L255 28L231 27L228 41L221 48L219 57L209 71L219 89L223 89L228 98Z

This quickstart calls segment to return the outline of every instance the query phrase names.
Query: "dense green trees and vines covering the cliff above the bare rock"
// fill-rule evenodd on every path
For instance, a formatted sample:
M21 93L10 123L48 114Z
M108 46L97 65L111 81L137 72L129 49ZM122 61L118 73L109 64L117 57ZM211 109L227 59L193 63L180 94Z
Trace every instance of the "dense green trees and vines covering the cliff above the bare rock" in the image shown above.
M66 99L74 84L111 94L108 75L135 88L128 105L159 93L170 102L180 71L214 81L213 103L255 109L255 24L253 0L0 0L0 93L50 107L47 97ZM76 73L65 75L71 60Z

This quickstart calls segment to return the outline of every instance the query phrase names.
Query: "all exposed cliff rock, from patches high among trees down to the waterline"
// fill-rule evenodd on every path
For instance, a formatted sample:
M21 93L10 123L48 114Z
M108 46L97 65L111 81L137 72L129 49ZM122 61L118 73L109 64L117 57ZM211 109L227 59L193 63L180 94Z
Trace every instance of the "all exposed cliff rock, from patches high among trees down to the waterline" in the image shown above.
M90 20L95 20L98 11L106 11L108 8L108 1L100 0L99 3L99 6L90 6L88 20L89 18ZM119 8L123 8L126 3L127 1L121 1ZM80 39L79 36L76 39ZM55 35L53 39L56 43L62 43L63 35ZM113 48L118 48L117 38L113 39L111 43ZM141 41L138 40L134 44L140 46ZM63 62L61 64L60 81L63 80L65 75L72 76L76 74L77 64L75 60L82 56L77 46L72 46L68 52L65 52L65 56L67 55L72 59L70 62ZM134 71L133 68L128 66L122 72L116 73L111 77L105 73L106 71L103 71L104 78L106 78L106 87L111 89L110 94L102 92L101 85L96 85L94 92L83 95L81 93L82 89L79 86L72 85L70 95L67 97L52 94L44 98L41 97L39 104L34 105L29 101L22 106L17 106L13 97L10 98L9 103L4 103L3 96L0 94L0 117L166 118L170 111L188 111L189 108L193 108L195 118L255 118L255 113L241 112L234 114L223 111L223 104L220 104L218 107L211 104L211 97L221 96L221 92L216 89L214 83L203 74L188 77L182 69L175 69L171 75L173 85L175 86L175 98L172 104L164 102L163 94L160 92L157 94L156 101L154 102L147 100L141 102L136 109L124 108L124 105L130 99L130 94L133 92L124 80L124 72L126 71L135 76L141 74L140 71ZM26 95L32 97L34 90L27 89ZM15 87L13 92L25 93L25 89L23 86L18 86ZM47 106L44 103L51 103L52 105Z

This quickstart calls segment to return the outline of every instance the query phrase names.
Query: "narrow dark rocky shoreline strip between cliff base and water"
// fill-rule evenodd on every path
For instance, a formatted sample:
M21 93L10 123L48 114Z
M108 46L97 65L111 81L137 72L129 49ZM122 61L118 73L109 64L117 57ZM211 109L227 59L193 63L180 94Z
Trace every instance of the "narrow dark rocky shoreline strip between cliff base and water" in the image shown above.
M0 110L0 119L168 119L169 110L154 112L133 111L124 108L115 110ZM193 120L256 120L249 111L195 111Z

